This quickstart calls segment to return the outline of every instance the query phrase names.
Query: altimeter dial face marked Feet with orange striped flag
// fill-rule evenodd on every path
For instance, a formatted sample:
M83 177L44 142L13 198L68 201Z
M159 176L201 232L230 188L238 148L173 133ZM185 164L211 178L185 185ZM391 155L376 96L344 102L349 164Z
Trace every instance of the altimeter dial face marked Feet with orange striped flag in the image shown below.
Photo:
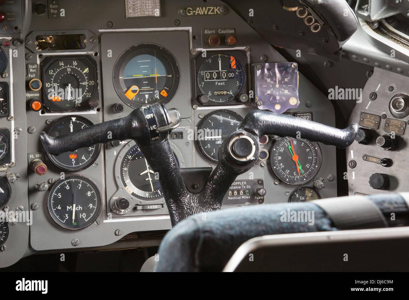
M199 89L213 102L233 100L243 91L245 82L243 65L234 56L216 54L207 58L199 67Z

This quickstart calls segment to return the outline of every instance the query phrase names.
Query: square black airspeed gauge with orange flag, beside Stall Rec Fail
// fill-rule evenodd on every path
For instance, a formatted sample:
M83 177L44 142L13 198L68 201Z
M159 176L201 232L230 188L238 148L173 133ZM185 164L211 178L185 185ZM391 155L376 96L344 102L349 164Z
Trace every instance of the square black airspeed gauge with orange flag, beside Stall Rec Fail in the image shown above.
M88 56L49 57L41 62L43 104L52 112L92 109L97 65Z

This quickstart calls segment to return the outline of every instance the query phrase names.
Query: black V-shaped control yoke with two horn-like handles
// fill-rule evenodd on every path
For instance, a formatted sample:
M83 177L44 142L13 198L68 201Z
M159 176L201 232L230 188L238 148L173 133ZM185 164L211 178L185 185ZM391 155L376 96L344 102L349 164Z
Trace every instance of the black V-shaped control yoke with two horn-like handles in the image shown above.
M111 140L135 140L159 182L169 209L172 226L195 213L218 210L223 196L236 177L247 172L260 154L259 138L265 134L306 138L312 142L339 148L349 146L358 131L357 124L337 129L316 122L269 111L252 110L240 128L231 133L219 149L219 162L199 193L187 190L168 134L180 124L177 109L167 110L163 104L146 105L128 116L103 122L57 138L40 133L45 151L58 155Z

